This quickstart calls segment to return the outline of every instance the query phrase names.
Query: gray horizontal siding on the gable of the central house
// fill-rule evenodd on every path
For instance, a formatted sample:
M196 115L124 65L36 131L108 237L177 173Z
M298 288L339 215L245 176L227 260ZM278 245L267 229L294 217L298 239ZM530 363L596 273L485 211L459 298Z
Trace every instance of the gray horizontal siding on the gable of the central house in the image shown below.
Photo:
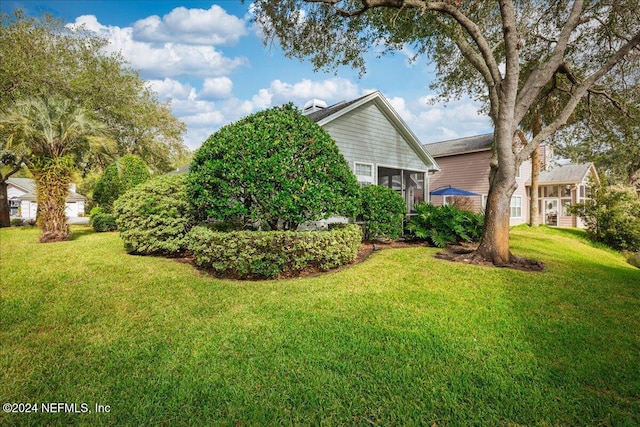
M427 169L404 137L373 103L357 108L323 127L336 140L352 169L354 162L415 171Z

